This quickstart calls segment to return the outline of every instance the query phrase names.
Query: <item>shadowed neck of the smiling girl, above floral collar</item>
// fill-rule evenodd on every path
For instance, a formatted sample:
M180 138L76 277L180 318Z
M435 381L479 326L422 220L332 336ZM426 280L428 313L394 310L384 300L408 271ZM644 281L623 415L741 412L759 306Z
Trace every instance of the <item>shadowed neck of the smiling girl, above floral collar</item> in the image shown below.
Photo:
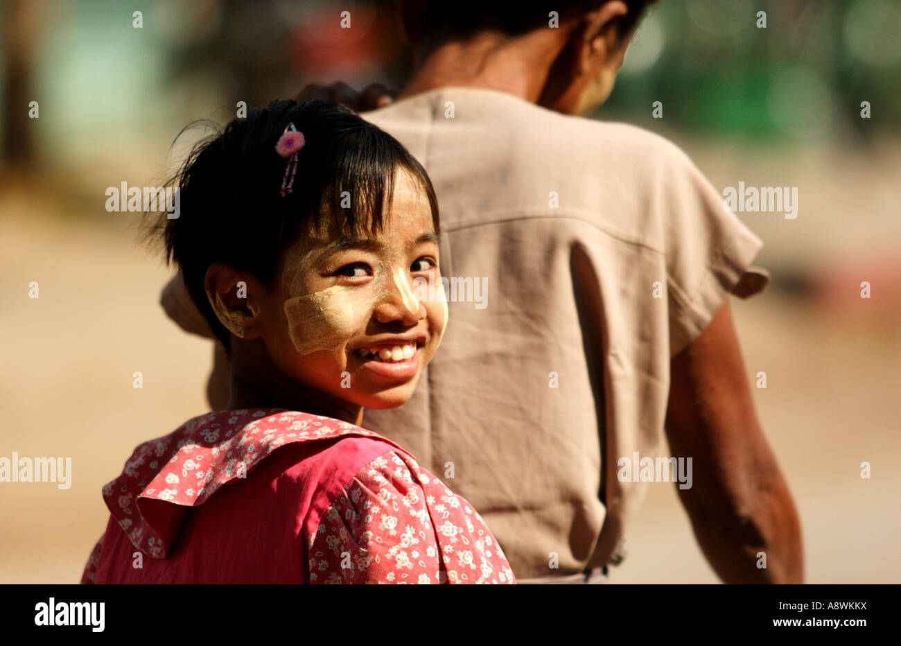
M262 341L237 341L232 337L232 399L229 409L286 408L325 415L359 426L363 407L312 390L301 389L285 378L268 357Z

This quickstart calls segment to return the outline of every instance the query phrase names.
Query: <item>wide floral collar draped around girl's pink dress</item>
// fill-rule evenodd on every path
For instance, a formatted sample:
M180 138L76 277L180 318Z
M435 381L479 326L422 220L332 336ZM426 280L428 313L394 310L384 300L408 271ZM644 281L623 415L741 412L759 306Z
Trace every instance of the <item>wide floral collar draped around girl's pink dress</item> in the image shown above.
M273 451L288 445L310 449L300 466L311 471L325 462L359 469L389 450L408 455L378 433L331 417L278 408L218 411L138 446L122 474L104 487L104 499L132 544L162 559L174 537L148 522L142 505L203 505L219 487L246 478Z

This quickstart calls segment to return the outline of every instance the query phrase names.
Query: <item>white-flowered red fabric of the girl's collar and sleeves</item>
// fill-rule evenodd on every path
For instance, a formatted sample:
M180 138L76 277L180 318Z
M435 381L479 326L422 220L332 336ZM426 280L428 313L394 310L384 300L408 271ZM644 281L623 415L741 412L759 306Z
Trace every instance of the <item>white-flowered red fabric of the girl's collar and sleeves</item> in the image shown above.
M349 435L396 450L360 469L322 518L308 519L315 527L306 537L311 583L515 583L504 552L469 503L395 442L330 417L283 409L195 417L138 446L122 475L103 488L104 499L136 548L165 559L175 536L145 519L141 499L202 505L280 446ZM102 547L101 537L82 583L94 583Z

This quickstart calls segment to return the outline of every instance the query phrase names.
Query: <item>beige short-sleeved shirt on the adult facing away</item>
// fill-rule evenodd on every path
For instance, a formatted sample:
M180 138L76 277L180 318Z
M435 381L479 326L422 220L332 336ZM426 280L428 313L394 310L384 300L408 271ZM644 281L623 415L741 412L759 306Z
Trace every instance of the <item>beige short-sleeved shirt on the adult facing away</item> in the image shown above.
M617 460L666 456L669 359L766 286L760 239L640 128L461 87L363 116L423 163L441 272L472 279L413 398L363 425L475 505L517 578L605 564L647 487Z

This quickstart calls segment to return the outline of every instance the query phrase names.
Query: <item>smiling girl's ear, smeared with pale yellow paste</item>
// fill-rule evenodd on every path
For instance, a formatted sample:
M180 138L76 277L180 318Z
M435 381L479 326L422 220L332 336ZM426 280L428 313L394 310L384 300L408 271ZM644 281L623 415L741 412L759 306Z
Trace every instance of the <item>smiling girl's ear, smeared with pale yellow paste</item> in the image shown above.
M214 262L206 269L204 287L206 298L225 329L246 341L261 336L259 314L261 299L266 292L259 280L221 262Z

